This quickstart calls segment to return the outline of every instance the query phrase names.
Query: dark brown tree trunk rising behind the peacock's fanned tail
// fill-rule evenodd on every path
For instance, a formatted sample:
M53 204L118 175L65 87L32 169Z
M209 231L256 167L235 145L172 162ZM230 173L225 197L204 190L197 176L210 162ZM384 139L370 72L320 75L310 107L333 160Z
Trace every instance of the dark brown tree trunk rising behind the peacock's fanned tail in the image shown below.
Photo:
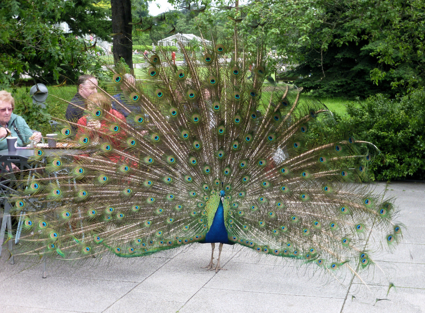
M116 63L121 58L133 69L133 41L131 31L133 22L131 17L131 0L111 0L112 32L113 36L113 60Z

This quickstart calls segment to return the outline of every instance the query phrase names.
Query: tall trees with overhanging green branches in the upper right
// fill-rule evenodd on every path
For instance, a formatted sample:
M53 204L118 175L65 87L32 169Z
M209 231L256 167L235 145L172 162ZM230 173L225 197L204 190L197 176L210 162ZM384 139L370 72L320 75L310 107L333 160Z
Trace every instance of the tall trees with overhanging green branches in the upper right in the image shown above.
M265 33L276 47L280 60L271 64L300 64L300 73L312 74L297 82L305 91L394 95L425 85L422 0L264 0L237 12L250 37Z

